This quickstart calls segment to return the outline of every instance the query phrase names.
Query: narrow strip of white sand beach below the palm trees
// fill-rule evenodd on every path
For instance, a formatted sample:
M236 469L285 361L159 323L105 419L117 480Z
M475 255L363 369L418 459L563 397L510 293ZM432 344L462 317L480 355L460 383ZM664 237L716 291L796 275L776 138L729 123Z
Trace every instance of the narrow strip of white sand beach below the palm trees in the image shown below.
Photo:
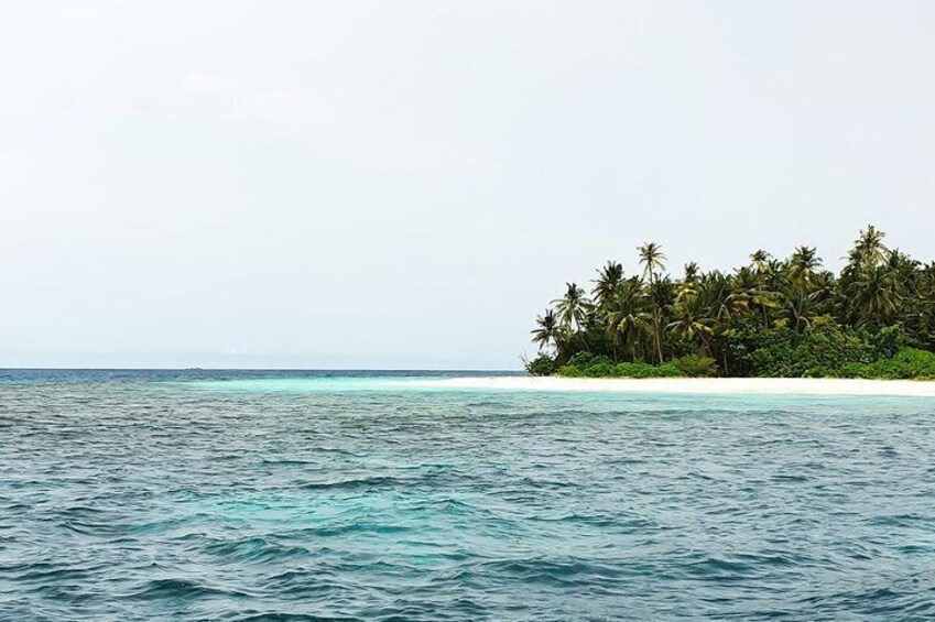
M741 393L769 395L910 395L935 397L935 381L827 378L449 378L433 386L512 391L609 391L617 393Z

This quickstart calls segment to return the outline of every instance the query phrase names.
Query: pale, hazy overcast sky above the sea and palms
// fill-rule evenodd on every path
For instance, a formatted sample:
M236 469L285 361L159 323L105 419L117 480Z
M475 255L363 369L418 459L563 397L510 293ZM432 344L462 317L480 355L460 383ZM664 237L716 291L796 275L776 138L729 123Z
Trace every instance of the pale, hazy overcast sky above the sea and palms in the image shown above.
M15 2L0 367L518 369L662 244L935 259L935 3Z

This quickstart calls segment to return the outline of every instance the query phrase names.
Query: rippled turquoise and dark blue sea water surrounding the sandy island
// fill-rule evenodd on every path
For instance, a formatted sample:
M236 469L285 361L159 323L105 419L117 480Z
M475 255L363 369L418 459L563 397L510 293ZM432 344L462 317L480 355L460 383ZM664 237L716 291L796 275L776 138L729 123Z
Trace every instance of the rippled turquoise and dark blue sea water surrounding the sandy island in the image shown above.
M0 620L932 620L935 403L0 371Z

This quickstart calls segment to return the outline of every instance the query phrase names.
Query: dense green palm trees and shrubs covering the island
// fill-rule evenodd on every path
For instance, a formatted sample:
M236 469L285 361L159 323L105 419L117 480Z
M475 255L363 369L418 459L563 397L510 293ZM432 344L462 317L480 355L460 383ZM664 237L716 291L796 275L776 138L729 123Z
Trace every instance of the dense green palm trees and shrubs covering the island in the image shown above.
M590 293L567 283L536 318L530 373L935 378L935 262L922 264L861 231L840 274L815 248L765 251L730 273L665 272L659 244L639 249L642 274L598 270Z

